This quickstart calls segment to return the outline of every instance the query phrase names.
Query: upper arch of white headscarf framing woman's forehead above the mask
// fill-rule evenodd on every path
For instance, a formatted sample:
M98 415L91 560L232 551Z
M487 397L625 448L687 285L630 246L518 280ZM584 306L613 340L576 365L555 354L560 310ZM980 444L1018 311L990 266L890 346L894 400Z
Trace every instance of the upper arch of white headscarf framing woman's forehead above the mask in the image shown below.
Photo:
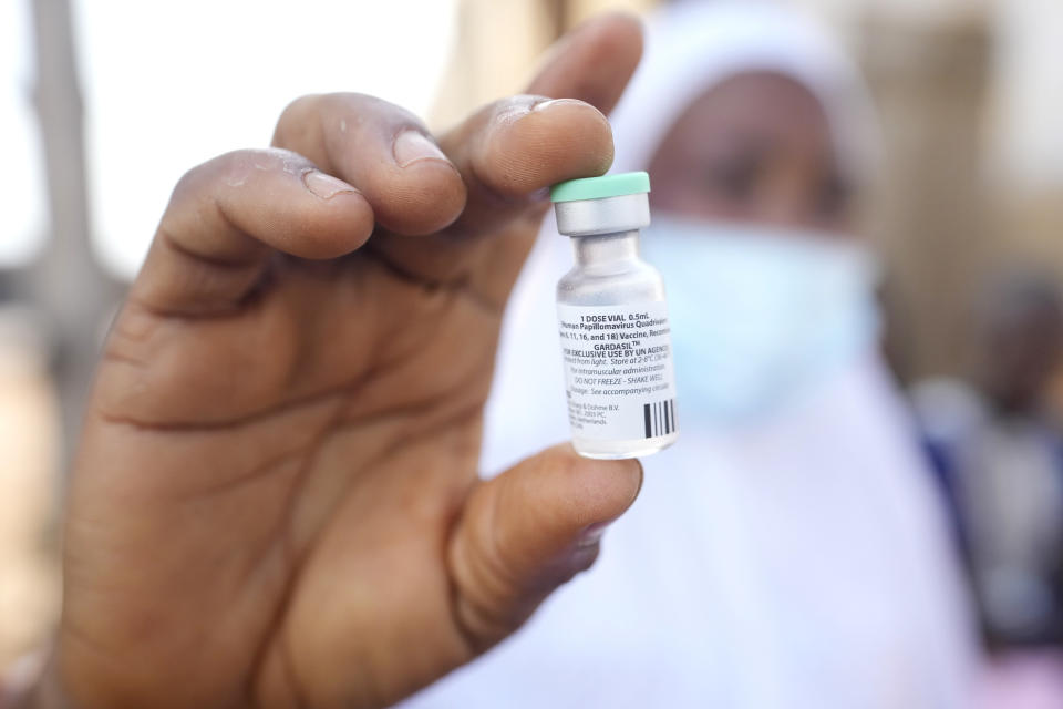
M737 74L771 72L806 88L823 106L847 176L878 162L875 111L838 43L803 14L766 0L688 0L651 17L639 69L610 116L612 172L646 169L683 111Z

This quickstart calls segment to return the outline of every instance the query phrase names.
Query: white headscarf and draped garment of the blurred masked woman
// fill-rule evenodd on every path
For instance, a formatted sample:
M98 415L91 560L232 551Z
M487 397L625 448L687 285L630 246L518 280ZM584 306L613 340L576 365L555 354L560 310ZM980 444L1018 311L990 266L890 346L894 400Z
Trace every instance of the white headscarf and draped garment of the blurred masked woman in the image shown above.
M826 44L805 42L805 29L788 32L807 27L792 16L745 8L679 7L651 24L613 121L617 169L644 168L687 103L744 69L785 71L845 114L838 91L858 84L840 56L809 49ZM672 50L671 61L657 56ZM568 438L560 356L549 356L567 242L548 219L510 300L488 473ZM682 395L680 441L643 461L641 496L596 566L516 636L403 706L968 709L967 605L877 356L850 360L756 428L684 427Z

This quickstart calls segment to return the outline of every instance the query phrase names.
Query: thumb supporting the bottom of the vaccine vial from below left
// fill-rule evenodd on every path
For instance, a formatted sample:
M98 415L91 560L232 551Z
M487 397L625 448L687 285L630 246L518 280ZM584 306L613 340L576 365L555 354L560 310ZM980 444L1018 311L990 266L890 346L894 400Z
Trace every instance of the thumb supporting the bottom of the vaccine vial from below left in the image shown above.
M641 485L637 460L580 458L567 443L479 484L448 549L454 615L471 649L483 653L505 638L589 568L605 525Z

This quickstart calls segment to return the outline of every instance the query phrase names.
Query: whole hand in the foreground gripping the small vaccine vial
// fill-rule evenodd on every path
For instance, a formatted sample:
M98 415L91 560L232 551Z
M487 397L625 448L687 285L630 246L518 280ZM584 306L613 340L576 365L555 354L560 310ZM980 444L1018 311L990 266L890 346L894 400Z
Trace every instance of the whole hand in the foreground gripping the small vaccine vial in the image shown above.
M87 412L56 696L384 706L589 566L639 464L563 445L481 482L481 421L545 188L609 167L599 110L639 52L631 19L585 25L438 147L382 101L307 96L276 148L180 181Z

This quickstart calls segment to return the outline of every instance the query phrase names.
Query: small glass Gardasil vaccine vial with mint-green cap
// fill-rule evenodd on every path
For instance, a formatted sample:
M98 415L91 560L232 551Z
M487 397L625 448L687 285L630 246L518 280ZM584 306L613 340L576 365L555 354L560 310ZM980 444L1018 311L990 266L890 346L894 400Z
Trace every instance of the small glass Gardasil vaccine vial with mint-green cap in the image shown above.
M649 192L642 172L550 191L576 257L557 284L557 316L572 445L587 458L649 455L679 436L664 284L639 256Z

